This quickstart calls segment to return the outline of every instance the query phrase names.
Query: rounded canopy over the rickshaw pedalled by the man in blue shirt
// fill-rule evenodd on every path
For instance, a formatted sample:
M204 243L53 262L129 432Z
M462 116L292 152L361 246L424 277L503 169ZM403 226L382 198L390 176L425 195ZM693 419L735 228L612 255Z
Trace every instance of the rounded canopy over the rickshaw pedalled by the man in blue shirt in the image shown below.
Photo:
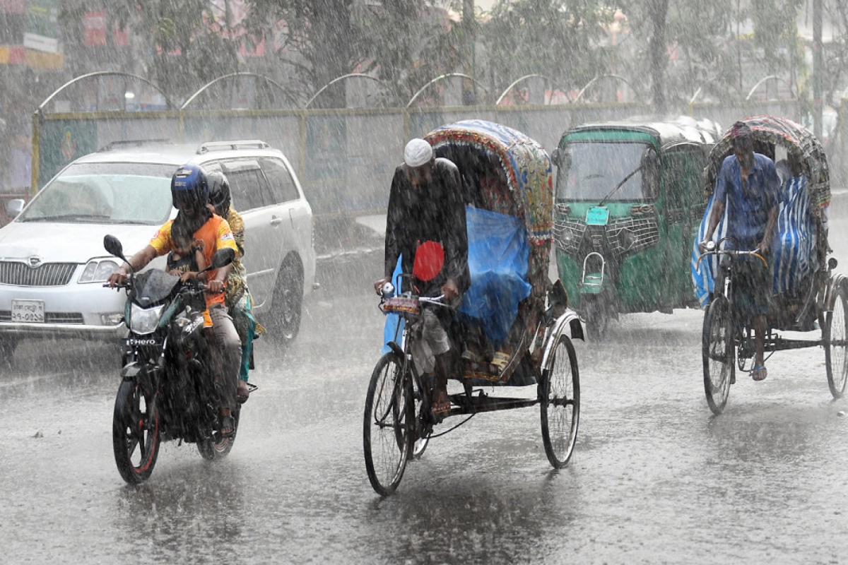
M766 143L775 147L784 147L788 155L798 159L801 169L809 180L807 192L811 207L823 208L830 203L830 172L824 147L812 135L810 130L791 119L779 116L754 116L740 120L754 132L754 151L757 144ZM724 132L710 152L710 160L704 169L706 199L716 188L718 173L722 162L733 153L730 147L730 130Z

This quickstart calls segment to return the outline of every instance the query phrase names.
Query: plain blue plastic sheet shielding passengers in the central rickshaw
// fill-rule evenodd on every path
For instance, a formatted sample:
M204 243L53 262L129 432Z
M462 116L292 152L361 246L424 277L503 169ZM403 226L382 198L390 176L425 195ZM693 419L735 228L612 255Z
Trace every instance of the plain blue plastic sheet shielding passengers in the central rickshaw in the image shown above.
M471 207L466 224L471 288L462 296L460 313L482 324L497 347L516 320L518 303L530 296L527 229L520 219Z

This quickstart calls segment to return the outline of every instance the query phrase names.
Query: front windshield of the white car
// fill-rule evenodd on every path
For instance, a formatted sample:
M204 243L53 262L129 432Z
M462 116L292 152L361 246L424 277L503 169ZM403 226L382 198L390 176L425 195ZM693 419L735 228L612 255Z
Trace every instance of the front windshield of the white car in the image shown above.
M20 221L163 224L175 170L159 163L75 163L39 191Z

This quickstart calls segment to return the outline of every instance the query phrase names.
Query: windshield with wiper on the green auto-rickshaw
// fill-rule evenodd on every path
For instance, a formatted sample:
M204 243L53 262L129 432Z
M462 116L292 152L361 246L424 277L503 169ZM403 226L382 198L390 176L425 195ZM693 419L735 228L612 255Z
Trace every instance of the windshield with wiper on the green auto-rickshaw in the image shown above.
M569 142L556 173L556 199L600 202L624 180L611 200L653 200L658 191L656 171L639 169L649 149L641 142ZM628 174L632 174L629 179Z

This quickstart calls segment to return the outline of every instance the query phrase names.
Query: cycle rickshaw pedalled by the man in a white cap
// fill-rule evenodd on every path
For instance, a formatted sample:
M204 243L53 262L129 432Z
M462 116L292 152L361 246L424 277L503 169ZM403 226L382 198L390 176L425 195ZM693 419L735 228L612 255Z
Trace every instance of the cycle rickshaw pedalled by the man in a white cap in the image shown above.
M521 132L483 120L445 125L425 139L437 157L449 158L460 169L467 204L471 288L454 314L451 331L451 341L463 352L455 371L462 392L449 394L445 421L538 404L545 453L555 468L564 467L580 416L571 339L583 339L583 326L567 308L563 285L551 284L548 277L553 240L550 157ZM393 282L394 288L402 288L398 277ZM397 488L406 463L421 457L437 426L430 410L431 384L411 353L425 306L444 307L438 298L412 291L384 294L380 303L384 313L399 317L365 398L365 468L381 496ZM495 347L510 354L498 359L492 355ZM488 386L535 390L523 398L505 397L487 395L483 388Z

